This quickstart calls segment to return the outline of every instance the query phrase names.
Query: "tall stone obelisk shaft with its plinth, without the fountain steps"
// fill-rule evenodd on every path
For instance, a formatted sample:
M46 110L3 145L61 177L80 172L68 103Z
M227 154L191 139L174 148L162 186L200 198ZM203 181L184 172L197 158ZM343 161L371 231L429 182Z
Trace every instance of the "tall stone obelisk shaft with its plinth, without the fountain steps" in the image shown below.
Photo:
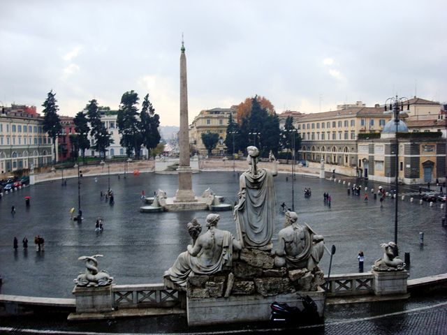
M188 122L188 83L186 80L186 56L182 40L182 54L180 55L180 131L179 149L180 163L177 168L179 188L175 193L174 202L196 202L191 180L191 166L189 165L189 122Z

